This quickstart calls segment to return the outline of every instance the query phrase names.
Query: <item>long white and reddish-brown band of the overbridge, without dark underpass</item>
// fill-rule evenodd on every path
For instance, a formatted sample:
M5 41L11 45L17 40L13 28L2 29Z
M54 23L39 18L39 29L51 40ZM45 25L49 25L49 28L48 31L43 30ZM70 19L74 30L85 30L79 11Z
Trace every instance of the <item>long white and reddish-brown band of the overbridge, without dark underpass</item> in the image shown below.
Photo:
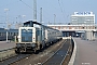
M97 25L47 25L58 30L93 30L97 31Z

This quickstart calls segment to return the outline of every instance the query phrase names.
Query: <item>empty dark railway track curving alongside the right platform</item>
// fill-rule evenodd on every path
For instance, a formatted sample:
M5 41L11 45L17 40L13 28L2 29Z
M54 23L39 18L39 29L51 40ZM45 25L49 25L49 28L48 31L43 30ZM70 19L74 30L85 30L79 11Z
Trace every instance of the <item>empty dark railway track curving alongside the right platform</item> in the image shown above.
M50 56L42 65L63 65L66 55L68 54L70 40L68 39L54 55Z

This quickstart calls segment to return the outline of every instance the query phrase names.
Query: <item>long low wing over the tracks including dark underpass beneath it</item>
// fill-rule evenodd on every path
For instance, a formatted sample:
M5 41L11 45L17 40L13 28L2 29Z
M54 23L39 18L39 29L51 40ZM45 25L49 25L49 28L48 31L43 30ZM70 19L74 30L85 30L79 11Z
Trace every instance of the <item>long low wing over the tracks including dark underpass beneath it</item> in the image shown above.
M64 37L68 36L77 36L81 37L81 34L85 32L86 30L97 30L96 25L47 25L48 27L58 29L63 31Z

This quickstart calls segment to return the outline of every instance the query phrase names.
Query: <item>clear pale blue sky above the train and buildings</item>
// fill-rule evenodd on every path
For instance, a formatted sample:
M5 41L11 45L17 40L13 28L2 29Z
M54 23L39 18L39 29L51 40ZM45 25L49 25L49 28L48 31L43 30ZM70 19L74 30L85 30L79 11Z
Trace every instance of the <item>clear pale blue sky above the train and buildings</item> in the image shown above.
M40 22L40 8L42 21L47 24L54 23L54 14L55 23L70 23L73 12L92 11L97 15L96 6L97 0L37 0L37 21ZM0 28L6 27L6 18L12 27L16 23L33 21L33 0L0 0Z

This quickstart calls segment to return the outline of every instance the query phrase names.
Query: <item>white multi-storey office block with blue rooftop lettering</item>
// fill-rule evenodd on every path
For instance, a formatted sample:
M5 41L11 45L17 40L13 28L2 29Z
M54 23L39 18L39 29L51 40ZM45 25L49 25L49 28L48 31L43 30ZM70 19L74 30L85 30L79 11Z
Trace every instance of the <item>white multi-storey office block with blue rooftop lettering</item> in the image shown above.
M72 25L94 25L95 14L93 12L74 12L71 15Z

